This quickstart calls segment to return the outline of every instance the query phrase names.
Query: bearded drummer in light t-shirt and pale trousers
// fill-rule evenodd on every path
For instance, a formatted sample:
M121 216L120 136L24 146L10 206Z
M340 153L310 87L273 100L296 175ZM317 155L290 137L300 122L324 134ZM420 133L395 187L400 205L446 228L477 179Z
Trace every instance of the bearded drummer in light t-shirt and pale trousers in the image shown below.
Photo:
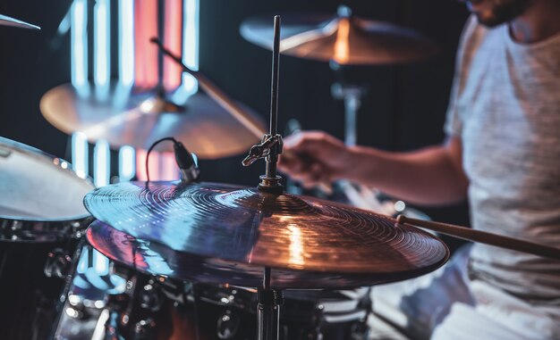
M468 197L473 228L560 247L560 1L467 6L445 143L388 153L299 133L284 151L300 157L280 170L306 187L347 178L412 203ZM372 300L372 338L560 338L560 262L489 245L374 287Z

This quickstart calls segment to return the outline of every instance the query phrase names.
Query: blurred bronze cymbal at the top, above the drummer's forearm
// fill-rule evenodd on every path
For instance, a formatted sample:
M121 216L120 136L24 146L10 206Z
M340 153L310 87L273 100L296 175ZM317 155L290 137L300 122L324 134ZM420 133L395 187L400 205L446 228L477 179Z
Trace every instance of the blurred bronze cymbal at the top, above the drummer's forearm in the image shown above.
M338 14L293 13L282 16L280 53L335 61L346 65L415 62L438 51L437 45L412 29L353 17L347 7ZM273 27L267 16L242 22L242 37L272 49Z

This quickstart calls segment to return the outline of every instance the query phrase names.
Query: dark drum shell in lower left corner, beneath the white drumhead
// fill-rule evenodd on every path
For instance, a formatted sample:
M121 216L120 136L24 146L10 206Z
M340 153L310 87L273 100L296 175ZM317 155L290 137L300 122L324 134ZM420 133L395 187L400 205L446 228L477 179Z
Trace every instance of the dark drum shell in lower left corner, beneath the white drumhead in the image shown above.
M79 239L57 242L0 242L0 328L3 339L49 339L58 317L67 275L72 271ZM54 257L62 256L61 259ZM62 265L58 274L46 267L52 261ZM65 272L68 271L68 272Z

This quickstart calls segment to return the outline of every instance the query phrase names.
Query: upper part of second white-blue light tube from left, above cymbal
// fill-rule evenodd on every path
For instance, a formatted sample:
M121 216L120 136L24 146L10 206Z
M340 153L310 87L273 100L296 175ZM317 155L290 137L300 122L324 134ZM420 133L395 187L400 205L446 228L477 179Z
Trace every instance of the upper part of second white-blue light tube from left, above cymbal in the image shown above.
M95 46L93 60L93 80L97 87L107 87L111 72L111 16L108 0L96 0L94 7L95 28L93 42Z

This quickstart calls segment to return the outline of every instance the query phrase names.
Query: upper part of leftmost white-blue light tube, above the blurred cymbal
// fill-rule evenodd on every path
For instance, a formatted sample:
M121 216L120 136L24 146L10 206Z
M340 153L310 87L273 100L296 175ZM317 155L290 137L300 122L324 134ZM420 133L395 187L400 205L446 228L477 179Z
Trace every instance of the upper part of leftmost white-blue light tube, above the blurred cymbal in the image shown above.
M88 85L88 0L74 0L71 25L72 85L79 90Z

